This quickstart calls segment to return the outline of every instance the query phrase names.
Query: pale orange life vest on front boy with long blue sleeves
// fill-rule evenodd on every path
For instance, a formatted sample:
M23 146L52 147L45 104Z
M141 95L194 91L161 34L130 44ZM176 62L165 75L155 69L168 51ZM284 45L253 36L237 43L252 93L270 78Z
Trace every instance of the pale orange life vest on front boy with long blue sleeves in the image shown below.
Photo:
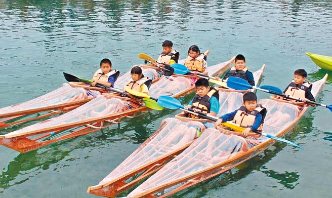
M240 125L241 127L248 127L254 124L255 118L258 113L262 114L262 121L261 125L257 129L258 131L262 131L263 128L263 123L264 123L264 118L266 115L266 108L264 108L262 105L258 104L255 110L251 112L247 112L246 108L244 106L241 106L234 118L233 118L233 123Z

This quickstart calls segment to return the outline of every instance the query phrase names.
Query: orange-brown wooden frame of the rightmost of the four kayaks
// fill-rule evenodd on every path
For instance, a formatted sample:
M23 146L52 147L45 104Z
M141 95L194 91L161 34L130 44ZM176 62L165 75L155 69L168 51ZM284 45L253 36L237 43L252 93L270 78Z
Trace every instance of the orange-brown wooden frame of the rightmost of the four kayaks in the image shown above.
M319 88L319 91L317 92L317 96L318 96L318 93L321 91L321 89L324 87L324 84L326 82L326 79L327 79L327 74L325 74L325 76L322 78L322 80L324 81L323 84L321 85L321 87ZM280 102L283 102L283 100L280 100ZM287 102L285 102L287 103ZM280 131L279 133L275 134L276 137L283 137L286 133L288 133L294 126L296 123L298 123L300 121L300 119L302 118L302 116L306 113L306 111L308 110L309 108L309 105L306 105L304 107L304 109L301 111L301 113L296 117L296 119L288 125L288 127L284 128L282 131ZM154 188L151 188L150 190L148 191L145 191L145 192L142 192L140 194L137 194L131 198L138 198L138 197L149 197L149 198L152 198L152 197L167 197L167 196L170 196L174 193L177 193L179 191L182 191L190 186L193 186L193 185L196 185L200 182L203 182L205 180L208 180L210 178L213 178L213 177L216 177L240 164L242 164L243 162L247 161L247 160L250 160L252 159L252 157L258 155L259 153L261 153L262 151L266 150L268 147L270 147L272 144L275 143L275 140L273 139L269 139L269 140L266 140L264 141L263 143L257 145L257 146L254 146L250 149L248 149L247 151L235 156L235 157L232 157L231 159L225 161L225 162L222 162L222 163L219 163L219 164L216 164L208 169L204 169L204 170L201 170L201 171L197 171L197 172L194 172L186 177L183 177L181 179L178 179L178 180L175 180L173 182L169 182L169 183L165 183L164 185L161 185L160 187L154 187ZM166 193L166 194L163 194L161 196L154 196L153 194L161 191L161 190L164 190L164 189L167 189L169 187L172 187L174 185L177 185L177 184L180 184L180 183L183 183L185 182L184 184L180 185L179 187L171 190L170 192Z

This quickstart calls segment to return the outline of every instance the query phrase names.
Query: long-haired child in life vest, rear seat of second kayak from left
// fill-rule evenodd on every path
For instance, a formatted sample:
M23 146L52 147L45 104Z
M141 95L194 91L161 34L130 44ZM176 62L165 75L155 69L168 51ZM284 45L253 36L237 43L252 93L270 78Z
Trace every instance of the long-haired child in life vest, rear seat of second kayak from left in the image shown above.
M208 71L206 71L206 67L208 66L206 56L204 53L200 53L198 46L192 45L189 47L188 57L184 65L188 70L193 71L195 75L198 73L208 75Z

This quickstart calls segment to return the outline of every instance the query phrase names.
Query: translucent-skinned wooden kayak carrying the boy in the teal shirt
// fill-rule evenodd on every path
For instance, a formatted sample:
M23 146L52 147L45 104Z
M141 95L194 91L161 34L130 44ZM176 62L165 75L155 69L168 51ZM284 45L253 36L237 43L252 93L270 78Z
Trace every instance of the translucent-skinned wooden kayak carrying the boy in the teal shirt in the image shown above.
M253 73L256 84L258 84L264 69L265 65L263 65L261 69ZM218 113L219 115L231 112L242 105L242 92L232 91L231 89L221 89L219 91L219 95L219 102L221 104L220 112ZM170 134L174 133L177 136L179 136L179 133L182 133L183 135L190 133L188 129L185 130L185 128L181 127L182 125L185 125L185 123L187 123L187 125L190 124L192 128L201 129L199 130L199 133L203 132L204 134L205 128L202 128L202 124L200 122L197 122L197 120L202 122L201 119L196 119L196 121L188 121L186 119L177 120L175 118L165 118L162 121L160 128L148 140L146 140L133 154L128 156L127 159L123 161L116 169L114 169L107 177L100 181L98 185L89 187L87 192L100 196L114 197L118 193L127 190L136 183L140 182L145 177L148 177L151 174L155 173L157 169L159 170L162 166L165 165L166 162L169 162L171 159L173 159L175 155L174 151L170 150L171 148L169 144L163 143L164 141L172 141L173 136L171 136L171 138L168 138L167 140L161 140L157 138L160 134L160 130L164 130L165 123L177 123L175 127L169 129ZM193 124L195 124L196 127L193 127ZM195 136L193 139L190 139L191 141L183 142L181 149L177 150L177 154L181 153L184 148L188 147L191 143L193 143L193 140L196 139L196 137L197 136ZM153 142L151 139L153 139ZM187 138L185 138L185 140L186 139ZM159 145L160 150L162 151L160 152L160 150L155 150L154 145ZM145 153L142 153L141 150L146 151ZM151 155L149 153L153 154ZM144 156L144 160L137 164L136 159L139 155ZM167 159L167 161L165 160L162 163L159 163L160 155L163 156L163 159ZM150 167L153 167L153 169L151 169Z

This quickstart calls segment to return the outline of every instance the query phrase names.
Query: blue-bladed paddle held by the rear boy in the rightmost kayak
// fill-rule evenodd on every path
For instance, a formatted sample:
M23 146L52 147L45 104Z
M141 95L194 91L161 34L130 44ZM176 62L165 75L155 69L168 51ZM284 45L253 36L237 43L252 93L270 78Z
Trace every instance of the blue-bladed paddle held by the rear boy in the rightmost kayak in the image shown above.
M260 90L260 91L263 91L263 92L266 92L266 93L282 96L282 97L293 99L293 100L296 100L296 101L300 101L300 102L303 101L301 98L295 98L295 97L283 94L282 91L277 87L273 87L273 86L261 86L261 87L252 86L247 81L245 81L244 79L239 78L239 77L234 77L234 76L230 76L228 78L227 86L232 88L232 89L235 89L235 90L257 89L257 90ZM330 105L320 104L320 103L313 102L313 101L310 101L310 100L308 100L307 103L315 104L315 105L318 105L318 106L323 106L325 108L328 108L330 111L332 111L332 104L330 104Z

